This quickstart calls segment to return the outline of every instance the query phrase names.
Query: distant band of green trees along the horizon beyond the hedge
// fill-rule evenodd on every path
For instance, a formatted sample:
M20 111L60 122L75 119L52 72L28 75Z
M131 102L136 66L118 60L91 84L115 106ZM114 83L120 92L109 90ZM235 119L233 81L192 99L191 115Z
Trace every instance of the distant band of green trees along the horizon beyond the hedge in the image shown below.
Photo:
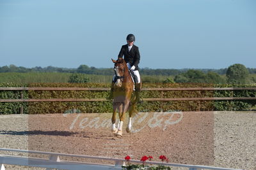
M101 82L102 76L112 77L113 68L96 68L81 65L74 68L63 68L63 67L17 67L15 65L0 67L0 81L13 81L10 78L6 78L6 73L17 73L12 75L13 78L19 79L22 76L22 80L28 76L29 73L56 73L63 74L65 80L70 83L85 83L85 82ZM18 75L19 73L19 75ZM22 74L26 73L26 74ZM140 69L140 74L143 82L145 83L215 83L215 84L252 84L256 83L256 69L246 68L243 64L234 64L225 69L150 69L148 67ZM49 76L48 74L48 76ZM67 74L67 75L64 75ZM97 76L95 76L97 75ZM68 78L66 78L68 76ZM101 77L100 77L101 76ZM100 80L95 80L95 79ZM32 80L31 76L28 81ZM45 80L45 79L44 79ZM40 81L44 81L40 80ZM45 80L46 81L46 80ZM49 81L49 80L47 80ZM51 80L50 80L51 81ZM63 81L63 80L61 80ZM105 81L108 81L104 80ZM109 78L111 81L111 78Z

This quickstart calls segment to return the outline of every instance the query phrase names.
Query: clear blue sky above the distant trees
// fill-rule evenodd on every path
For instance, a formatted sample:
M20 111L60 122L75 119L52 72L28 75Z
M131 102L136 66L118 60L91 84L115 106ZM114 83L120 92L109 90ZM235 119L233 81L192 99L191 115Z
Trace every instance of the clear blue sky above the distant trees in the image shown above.
M255 0L0 0L0 66L113 67L127 34L140 67L256 67Z

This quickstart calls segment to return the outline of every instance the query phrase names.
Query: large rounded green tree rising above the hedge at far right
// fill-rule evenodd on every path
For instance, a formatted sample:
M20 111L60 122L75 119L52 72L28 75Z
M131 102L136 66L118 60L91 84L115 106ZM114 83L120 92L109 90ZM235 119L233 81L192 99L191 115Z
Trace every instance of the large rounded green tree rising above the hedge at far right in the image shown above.
M249 71L243 64L234 64L227 69L227 83L246 84L248 82Z

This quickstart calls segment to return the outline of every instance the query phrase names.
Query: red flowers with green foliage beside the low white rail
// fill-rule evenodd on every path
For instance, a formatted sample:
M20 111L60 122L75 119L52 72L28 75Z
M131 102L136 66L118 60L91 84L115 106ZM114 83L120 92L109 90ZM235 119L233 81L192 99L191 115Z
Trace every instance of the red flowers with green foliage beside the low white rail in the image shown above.
M122 166L123 170L130 170L130 169L134 169L134 170L140 170L140 169L148 169L148 170L170 170L171 168L168 166L164 166L164 165L159 165L159 166L147 166L146 165L146 160L152 161L153 157L149 156L147 157L146 155L141 157L140 161L142 162L142 164L131 164L130 162L131 157L129 155L127 155L125 157L125 161L127 162L127 166ZM168 162L168 159L166 158L166 156L164 155L160 155L159 159L162 160L162 162Z

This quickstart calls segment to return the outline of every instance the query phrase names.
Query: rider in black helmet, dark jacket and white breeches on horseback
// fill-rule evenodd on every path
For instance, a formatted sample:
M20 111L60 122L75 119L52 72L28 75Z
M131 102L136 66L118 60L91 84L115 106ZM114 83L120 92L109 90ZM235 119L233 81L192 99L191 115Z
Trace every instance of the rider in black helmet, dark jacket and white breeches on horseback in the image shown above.
M140 63L140 52L138 46L134 45L135 36L133 34L129 34L126 38L127 44L123 45L119 54L118 59L123 58L127 63L127 67L133 71L134 75L136 76L136 83L134 85L135 87L135 95L136 100L138 101L140 99L140 90L141 90L141 81L140 81L140 73L138 71L139 67L138 64ZM114 88L114 80L112 81L111 90L109 99L113 99L113 88Z

